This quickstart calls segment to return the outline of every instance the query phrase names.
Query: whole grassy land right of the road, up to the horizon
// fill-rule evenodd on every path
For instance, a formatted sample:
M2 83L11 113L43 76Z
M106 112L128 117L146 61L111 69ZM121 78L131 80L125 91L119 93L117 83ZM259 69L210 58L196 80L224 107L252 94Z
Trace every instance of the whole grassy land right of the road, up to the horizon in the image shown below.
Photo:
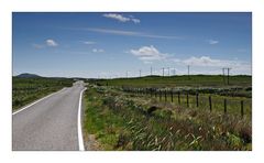
M220 75L146 76L88 83L84 131L99 141L101 150L252 148L251 76L230 76L229 85ZM196 94L199 94L198 107Z

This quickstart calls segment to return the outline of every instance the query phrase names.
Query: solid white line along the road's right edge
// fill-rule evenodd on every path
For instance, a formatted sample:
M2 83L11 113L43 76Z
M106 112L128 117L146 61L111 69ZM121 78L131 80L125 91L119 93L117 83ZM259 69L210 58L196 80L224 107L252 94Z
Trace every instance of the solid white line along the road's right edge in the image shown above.
M82 131L81 131L81 99L82 99L82 93L85 90L86 90L86 88L80 91L80 96L79 96L78 123L77 123L78 124L79 151L85 151Z

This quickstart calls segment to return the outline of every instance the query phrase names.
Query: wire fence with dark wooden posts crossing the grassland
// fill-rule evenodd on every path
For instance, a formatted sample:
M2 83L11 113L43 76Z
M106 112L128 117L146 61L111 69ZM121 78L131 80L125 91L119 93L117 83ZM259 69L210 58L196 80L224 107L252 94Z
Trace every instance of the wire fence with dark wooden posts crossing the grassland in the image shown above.
M252 116L252 99L227 97L215 94L198 94L189 90L157 88L121 88L123 91L155 98L161 102L172 102L187 108L208 109L240 117Z

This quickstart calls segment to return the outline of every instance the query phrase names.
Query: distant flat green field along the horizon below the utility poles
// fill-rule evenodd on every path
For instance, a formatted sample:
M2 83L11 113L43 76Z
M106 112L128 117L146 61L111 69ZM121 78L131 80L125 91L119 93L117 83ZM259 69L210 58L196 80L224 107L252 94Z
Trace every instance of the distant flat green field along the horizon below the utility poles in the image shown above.
M222 75L191 75L191 76L146 76L136 78L117 78L97 80L100 85L130 87L251 87L252 77L245 75L230 76L229 85L223 83Z

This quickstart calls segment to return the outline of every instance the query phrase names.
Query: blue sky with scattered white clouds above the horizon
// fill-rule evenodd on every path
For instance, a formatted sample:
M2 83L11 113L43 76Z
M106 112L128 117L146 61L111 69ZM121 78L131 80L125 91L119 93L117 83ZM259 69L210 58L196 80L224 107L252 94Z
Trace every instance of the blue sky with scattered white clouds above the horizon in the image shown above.
M251 13L13 13L13 75L251 75ZM169 68L168 68L169 67Z

